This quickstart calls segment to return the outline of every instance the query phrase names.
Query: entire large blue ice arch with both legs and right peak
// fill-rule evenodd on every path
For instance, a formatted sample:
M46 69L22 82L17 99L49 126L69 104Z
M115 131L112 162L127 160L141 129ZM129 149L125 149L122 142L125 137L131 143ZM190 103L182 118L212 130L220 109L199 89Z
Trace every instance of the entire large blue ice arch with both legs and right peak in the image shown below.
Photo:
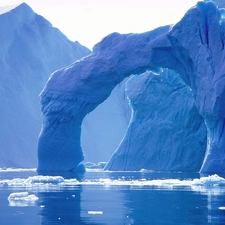
M201 172L225 172L225 21L212 2L199 2L174 27L111 34L87 58L55 72L41 94L44 122L39 170L73 170L83 160L84 116L130 74L158 66L177 71L193 91L207 126ZM169 30L170 29L170 30Z

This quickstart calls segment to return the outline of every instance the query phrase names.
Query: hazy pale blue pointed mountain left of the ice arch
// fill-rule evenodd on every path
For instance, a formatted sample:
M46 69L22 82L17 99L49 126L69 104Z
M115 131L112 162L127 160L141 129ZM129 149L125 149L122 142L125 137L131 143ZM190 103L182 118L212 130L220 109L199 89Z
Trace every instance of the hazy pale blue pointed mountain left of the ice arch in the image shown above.
M35 167L39 94L50 74L91 51L27 4L0 15L0 167Z

